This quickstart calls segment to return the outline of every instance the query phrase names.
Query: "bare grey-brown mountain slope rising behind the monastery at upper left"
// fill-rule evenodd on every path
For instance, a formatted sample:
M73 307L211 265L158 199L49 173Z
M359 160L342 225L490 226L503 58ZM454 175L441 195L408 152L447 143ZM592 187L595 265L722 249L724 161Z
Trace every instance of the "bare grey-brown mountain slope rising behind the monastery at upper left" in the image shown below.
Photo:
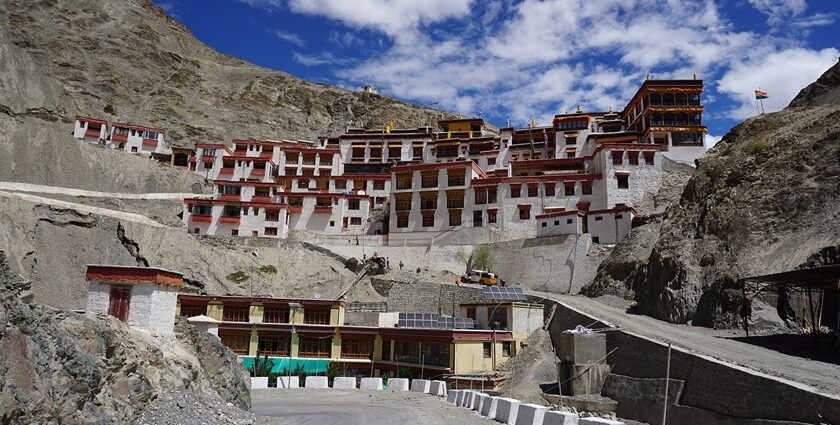
M191 187L154 167L120 172L111 155L70 143L76 115L162 127L175 146L312 140L350 126L412 127L448 116L223 55L150 0L0 0L0 57L0 180Z

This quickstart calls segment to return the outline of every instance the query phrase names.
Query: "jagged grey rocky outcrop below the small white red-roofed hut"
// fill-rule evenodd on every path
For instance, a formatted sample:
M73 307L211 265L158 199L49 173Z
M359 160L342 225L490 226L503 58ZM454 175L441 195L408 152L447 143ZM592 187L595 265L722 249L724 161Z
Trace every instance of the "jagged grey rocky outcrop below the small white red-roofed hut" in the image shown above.
M249 408L247 379L218 338L184 322L175 336L154 336L33 304L0 251L0 422L128 423L183 390L204 420L222 423L219 406Z

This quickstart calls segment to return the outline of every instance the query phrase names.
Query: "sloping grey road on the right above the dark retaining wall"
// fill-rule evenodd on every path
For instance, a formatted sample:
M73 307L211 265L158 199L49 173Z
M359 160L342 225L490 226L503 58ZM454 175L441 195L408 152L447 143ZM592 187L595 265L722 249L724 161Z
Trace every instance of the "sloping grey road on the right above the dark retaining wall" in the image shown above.
M793 385L836 397L840 402L840 366L790 356L777 351L729 339L739 331L715 331L688 325L674 325L648 316L631 315L622 307L610 306L584 296L534 293L553 299L591 316L606 320L628 332L706 355L770 376Z

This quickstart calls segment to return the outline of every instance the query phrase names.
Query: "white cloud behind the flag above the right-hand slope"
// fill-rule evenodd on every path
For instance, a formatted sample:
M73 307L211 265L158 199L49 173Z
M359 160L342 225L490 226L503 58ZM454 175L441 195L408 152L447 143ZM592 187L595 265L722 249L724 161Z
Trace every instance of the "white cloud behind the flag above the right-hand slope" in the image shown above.
M768 91L764 101L767 112L778 111L790 103L799 91L816 80L837 62L840 51L791 48L745 61L735 62L718 82L718 91L729 95L738 106L729 116L743 119L756 115L755 89Z

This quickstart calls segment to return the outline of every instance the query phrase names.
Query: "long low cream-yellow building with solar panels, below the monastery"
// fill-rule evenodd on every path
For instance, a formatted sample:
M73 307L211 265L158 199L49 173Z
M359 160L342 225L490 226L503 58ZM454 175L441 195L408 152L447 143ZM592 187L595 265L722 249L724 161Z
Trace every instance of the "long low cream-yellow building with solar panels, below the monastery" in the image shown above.
M489 375L543 323L539 304L471 304L461 313L466 319L458 321L380 313L376 323L351 325L344 301L178 296L179 315L215 319L222 342L249 362L268 356L281 368L291 362L309 370L337 362L366 376L402 368L426 378Z

